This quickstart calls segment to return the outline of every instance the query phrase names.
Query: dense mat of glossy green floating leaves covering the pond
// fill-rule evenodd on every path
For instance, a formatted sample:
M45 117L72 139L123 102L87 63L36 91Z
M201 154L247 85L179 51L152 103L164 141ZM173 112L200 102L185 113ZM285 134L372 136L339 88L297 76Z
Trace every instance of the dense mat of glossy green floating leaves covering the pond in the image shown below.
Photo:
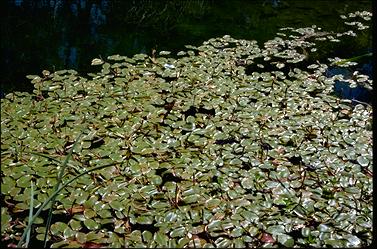
M348 19L370 17L342 16L357 29L365 26ZM298 35L280 33L287 38L263 47L213 38L174 58L113 55L94 59L100 69L89 77L28 76L33 94L1 100L3 241L17 243L27 224L30 182L37 209L84 133L63 183L115 165L58 195L53 247L370 245L372 108L333 96L342 76L326 77L328 65L300 68L302 48L315 51L316 39L358 31L281 32ZM372 89L371 79L355 75L352 84Z

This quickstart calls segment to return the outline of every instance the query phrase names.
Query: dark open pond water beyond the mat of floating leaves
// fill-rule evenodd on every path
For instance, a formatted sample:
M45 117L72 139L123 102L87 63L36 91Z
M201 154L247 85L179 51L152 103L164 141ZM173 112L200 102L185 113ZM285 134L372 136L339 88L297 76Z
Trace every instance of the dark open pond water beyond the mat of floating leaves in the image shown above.
M27 74L75 69L94 71L95 57L132 56L185 50L229 34L274 38L281 27L317 25L344 30L339 15L371 11L366 0L2 0L0 90L32 91ZM322 48L326 56L348 58L371 49L371 31L353 41Z

